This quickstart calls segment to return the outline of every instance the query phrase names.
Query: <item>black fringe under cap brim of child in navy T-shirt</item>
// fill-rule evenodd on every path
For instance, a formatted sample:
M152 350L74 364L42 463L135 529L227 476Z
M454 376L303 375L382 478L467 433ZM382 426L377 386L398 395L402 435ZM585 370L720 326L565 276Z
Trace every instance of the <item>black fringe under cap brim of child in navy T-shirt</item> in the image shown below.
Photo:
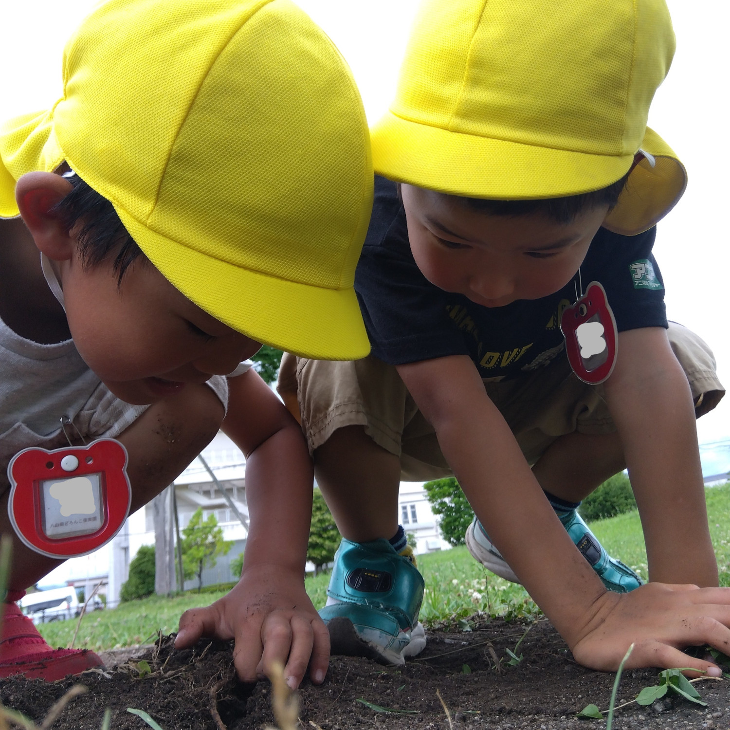
M629 171L630 172L630 171ZM621 180L616 180L606 188L580 193L580 195L569 195L564 198L545 198L536 200L490 200L485 198L467 198L466 196L441 195L460 201L471 210L488 215L504 215L508 218L518 218L520 215L544 215L556 223L572 223L581 213L601 205L608 205L609 210L618 203L618 196L621 195L626 180L629 178L627 172ZM400 195L400 185L398 186Z

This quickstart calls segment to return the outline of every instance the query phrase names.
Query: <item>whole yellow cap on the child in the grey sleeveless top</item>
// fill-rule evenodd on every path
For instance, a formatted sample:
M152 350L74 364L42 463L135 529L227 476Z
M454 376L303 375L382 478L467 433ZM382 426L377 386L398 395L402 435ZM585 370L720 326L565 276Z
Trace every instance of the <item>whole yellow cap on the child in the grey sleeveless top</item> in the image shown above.
M18 215L15 180L64 160L215 318L312 358L369 352L365 113L288 0L101 4L66 45L63 98L0 127L0 215Z

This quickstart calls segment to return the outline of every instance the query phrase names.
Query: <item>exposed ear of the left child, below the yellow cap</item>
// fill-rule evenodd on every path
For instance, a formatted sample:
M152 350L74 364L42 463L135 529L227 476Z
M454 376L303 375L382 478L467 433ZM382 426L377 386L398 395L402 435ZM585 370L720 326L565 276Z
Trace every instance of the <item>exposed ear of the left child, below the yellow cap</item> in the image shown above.
M53 172L28 172L15 185L20 217L31 232L38 250L54 261L72 257L74 241L53 207L73 189L68 180Z

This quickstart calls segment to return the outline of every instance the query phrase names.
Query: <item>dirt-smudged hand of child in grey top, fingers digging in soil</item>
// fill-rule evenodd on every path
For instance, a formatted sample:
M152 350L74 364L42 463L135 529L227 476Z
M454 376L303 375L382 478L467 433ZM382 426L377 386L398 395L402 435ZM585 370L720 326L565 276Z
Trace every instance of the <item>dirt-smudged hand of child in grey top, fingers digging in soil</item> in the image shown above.
M236 640L234 664L243 682L264 679L275 661L286 665L284 677L292 689L308 664L315 684L327 672L327 627L304 591L301 573L292 575L281 566L247 569L226 596L185 611L175 648L188 648L200 637Z

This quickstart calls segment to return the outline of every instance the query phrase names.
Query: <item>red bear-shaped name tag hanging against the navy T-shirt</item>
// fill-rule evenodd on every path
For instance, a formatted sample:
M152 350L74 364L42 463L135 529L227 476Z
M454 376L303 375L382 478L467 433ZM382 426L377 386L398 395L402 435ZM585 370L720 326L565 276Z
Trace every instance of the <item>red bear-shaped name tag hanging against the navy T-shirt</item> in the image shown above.
M560 320L565 349L573 372L589 385L598 385L613 372L618 354L616 320L606 291L597 281L566 307Z

